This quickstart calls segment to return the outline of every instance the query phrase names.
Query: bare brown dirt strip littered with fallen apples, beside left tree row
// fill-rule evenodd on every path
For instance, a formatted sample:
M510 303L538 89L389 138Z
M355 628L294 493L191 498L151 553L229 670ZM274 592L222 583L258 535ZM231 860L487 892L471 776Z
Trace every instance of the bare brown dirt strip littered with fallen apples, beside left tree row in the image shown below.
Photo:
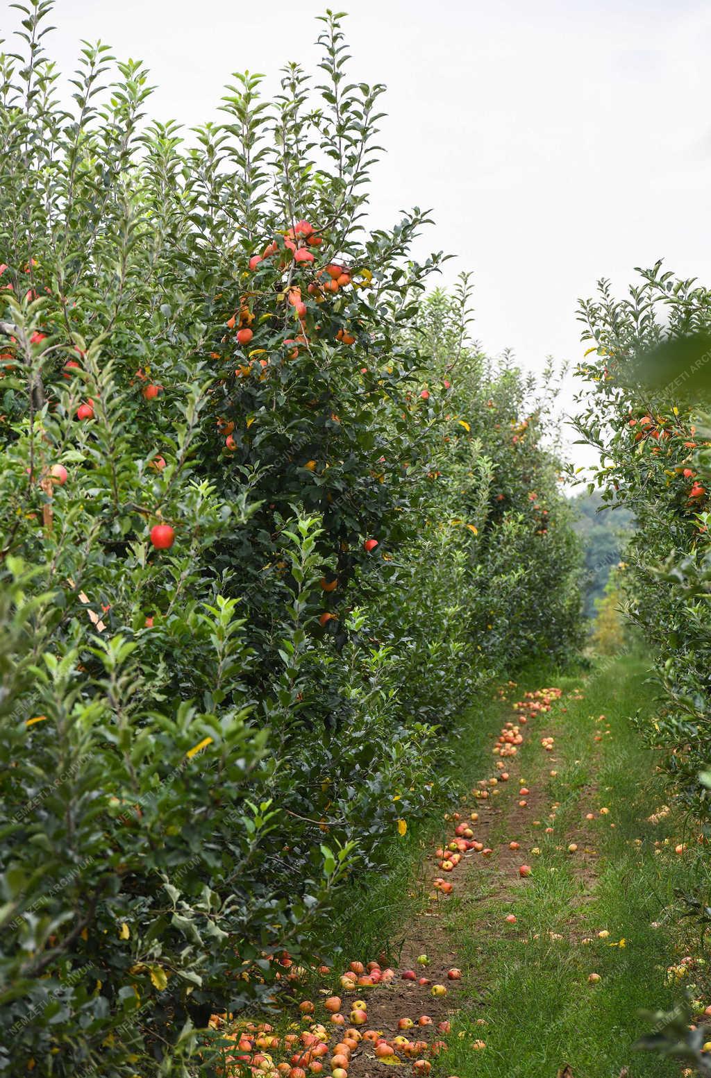
M414 1062L415 1073L427 1074L430 1060L439 1054L438 1042L446 1050L461 993L461 981L456 979L461 959L448 928L447 907L451 902L464 904L470 909L473 921L486 924L487 908L492 900L505 902L527 886L522 872L531 858L525 852L535 848L536 838L549 826L546 818L549 813L543 784L537 782L529 787L522 782L527 770L531 771L530 759L534 754L545 757L544 762L555 770L555 741L545 723L551 707L560 706L559 696L560 690L544 689L512 704L510 718L492 746L489 774L482 776L459 810L446 817L442 846L433 852L426 863L433 882L429 900L406 926L396 975L388 983L359 993L367 1004L366 1028L383 1037L394 1051L382 1060L375 1054L383 1051L382 1047L379 1049L372 1040L361 1040L351 1055L350 1078L385 1076L396 1061L409 1060ZM585 839L583 834L579 838ZM457 842L460 849L450 851L450 844ZM511 848L510 843L518 843L518 848ZM443 859L448 852L461 857L449 870ZM451 894L445 894L442 886L445 890L451 886ZM503 934L511 927L500 922L495 927L488 924L487 931ZM412 975L413 979L406 979ZM434 986L443 986L446 994L433 995ZM353 998L352 993L344 994L346 1014L346 999L351 1004ZM413 1025L399 1027L404 1019ZM423 1019L427 1020L424 1024ZM481 1050L484 1044L482 1036L479 1044L473 1042L473 1050Z

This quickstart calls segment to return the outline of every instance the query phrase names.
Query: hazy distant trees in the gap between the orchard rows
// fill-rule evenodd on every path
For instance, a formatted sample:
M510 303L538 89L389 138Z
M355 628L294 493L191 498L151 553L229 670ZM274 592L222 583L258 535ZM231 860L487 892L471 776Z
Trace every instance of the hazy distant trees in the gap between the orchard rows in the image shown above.
M627 536L634 527L634 517L623 507L610 509L598 490L580 494L572 498L571 503L578 512L574 527L585 545L585 566L588 572L585 613L588 618L594 618L596 603L602 598L610 570L623 556Z

